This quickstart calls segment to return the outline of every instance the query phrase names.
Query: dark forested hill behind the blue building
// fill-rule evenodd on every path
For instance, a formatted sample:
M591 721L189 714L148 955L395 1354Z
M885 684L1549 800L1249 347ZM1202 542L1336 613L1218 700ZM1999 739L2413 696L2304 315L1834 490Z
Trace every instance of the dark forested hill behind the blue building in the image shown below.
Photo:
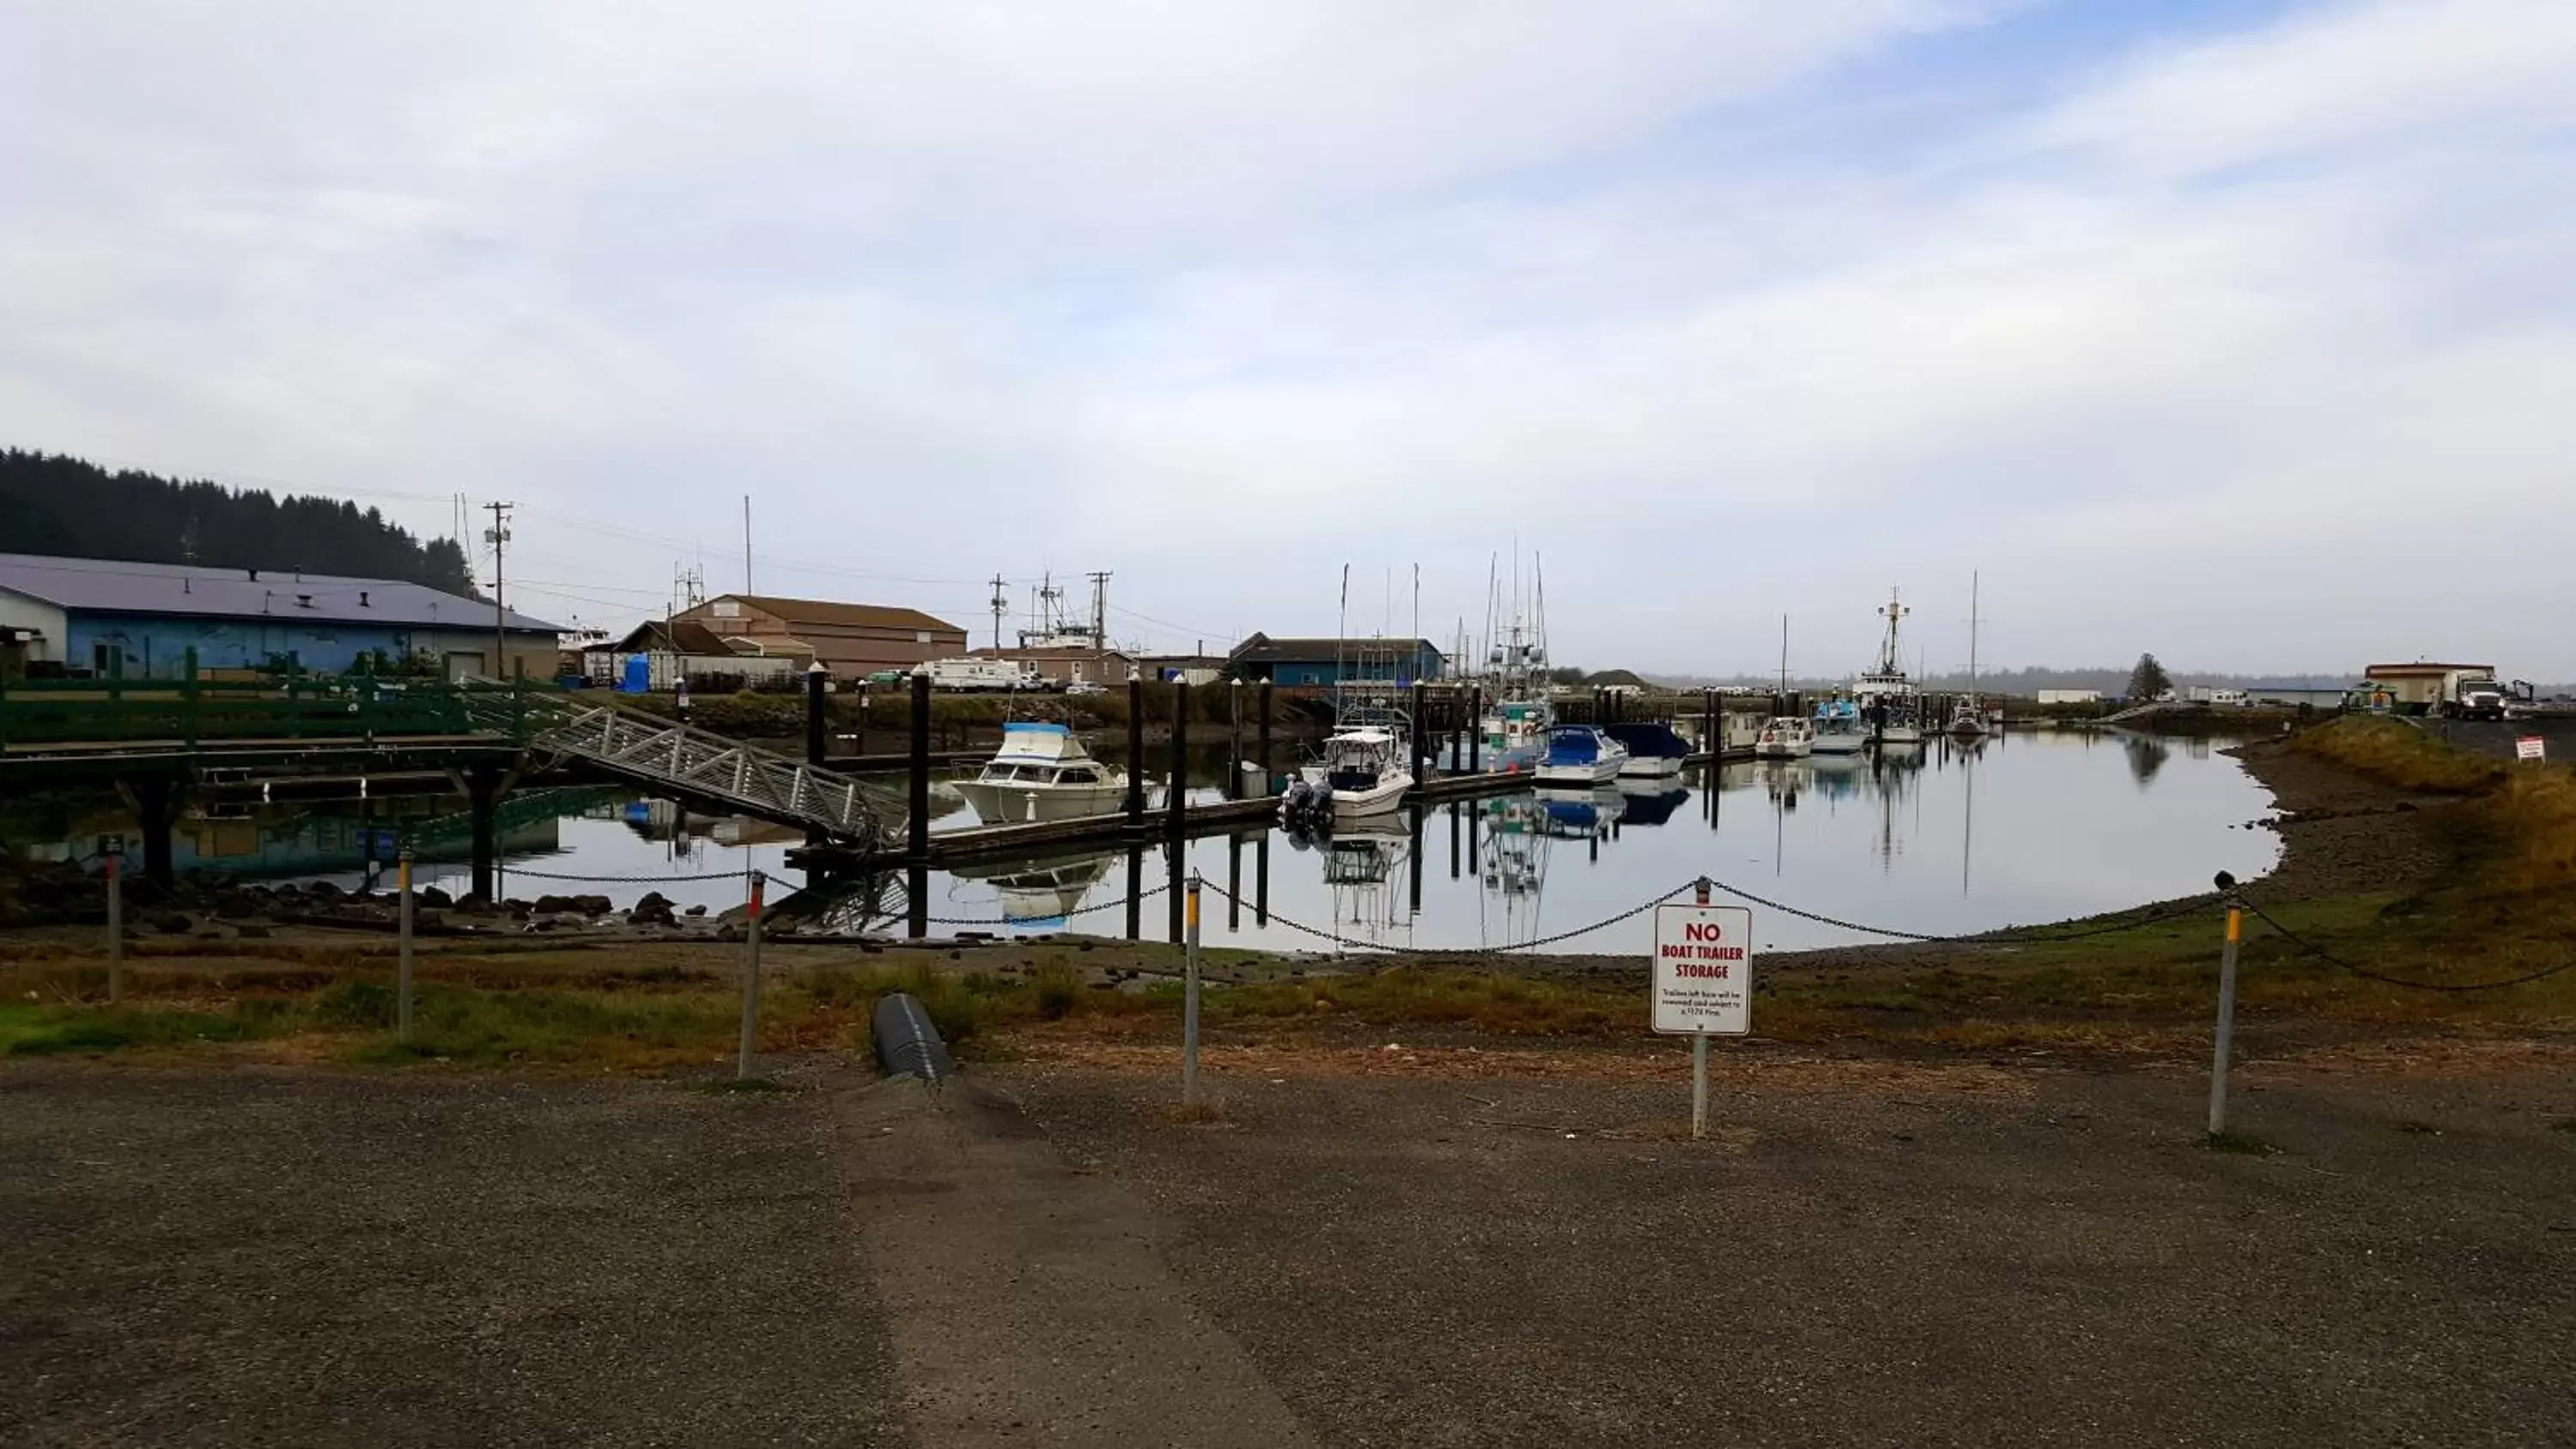
M474 571L453 538L422 543L374 507L111 474L18 448L0 450L0 553L304 569L474 595Z

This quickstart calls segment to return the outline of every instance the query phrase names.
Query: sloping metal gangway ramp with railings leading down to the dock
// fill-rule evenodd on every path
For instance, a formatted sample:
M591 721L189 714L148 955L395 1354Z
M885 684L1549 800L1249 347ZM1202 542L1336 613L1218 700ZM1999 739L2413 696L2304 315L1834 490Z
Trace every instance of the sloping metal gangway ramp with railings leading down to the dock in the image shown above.
M703 728L510 687L466 690L466 715L477 728L520 736L533 752L577 759L657 795L801 826L863 852L902 842L904 806L894 790Z

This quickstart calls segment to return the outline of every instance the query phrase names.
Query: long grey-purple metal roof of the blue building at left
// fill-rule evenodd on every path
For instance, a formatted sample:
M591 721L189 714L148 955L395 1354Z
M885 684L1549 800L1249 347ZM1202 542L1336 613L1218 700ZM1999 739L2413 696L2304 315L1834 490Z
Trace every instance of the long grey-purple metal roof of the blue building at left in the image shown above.
M402 579L350 579L278 569L201 569L118 558L0 553L0 589L59 610L183 618L283 618L307 623L384 623L410 628L492 628L492 602ZM515 633L562 633L523 613Z

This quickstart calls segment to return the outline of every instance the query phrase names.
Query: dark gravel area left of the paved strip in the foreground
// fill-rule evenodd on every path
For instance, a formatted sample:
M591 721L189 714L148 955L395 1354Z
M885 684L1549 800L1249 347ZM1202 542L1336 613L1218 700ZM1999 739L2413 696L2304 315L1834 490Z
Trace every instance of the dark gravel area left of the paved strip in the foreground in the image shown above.
M902 1444L822 1099L8 1066L0 1444Z

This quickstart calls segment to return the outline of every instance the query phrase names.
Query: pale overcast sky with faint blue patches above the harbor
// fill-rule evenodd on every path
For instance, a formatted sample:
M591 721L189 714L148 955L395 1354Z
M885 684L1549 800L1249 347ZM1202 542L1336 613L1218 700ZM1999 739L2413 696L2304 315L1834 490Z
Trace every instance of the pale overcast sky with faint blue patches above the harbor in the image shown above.
M0 440L989 628L2576 677L2568 0L0 0ZM489 571L489 561L484 564Z

